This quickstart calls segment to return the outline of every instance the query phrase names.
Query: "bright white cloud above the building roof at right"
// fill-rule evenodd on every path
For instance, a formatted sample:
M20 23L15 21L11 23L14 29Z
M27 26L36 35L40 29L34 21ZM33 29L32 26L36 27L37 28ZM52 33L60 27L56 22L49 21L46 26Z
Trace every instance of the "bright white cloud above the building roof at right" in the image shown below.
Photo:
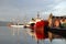
M66 15L66 1L57 4L52 12L54 13L54 15Z

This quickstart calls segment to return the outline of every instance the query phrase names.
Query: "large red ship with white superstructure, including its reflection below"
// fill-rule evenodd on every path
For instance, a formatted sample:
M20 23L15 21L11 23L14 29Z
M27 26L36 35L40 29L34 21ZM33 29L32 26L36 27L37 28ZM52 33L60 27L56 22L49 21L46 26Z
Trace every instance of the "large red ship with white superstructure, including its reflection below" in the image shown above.
M46 26L48 24L47 20L43 20L42 18L40 18L40 14L37 13L37 16L35 19L32 19L34 21L31 21L30 23L30 35L32 37L35 37L35 40L37 41L42 41L42 40L45 40L47 38L47 30Z

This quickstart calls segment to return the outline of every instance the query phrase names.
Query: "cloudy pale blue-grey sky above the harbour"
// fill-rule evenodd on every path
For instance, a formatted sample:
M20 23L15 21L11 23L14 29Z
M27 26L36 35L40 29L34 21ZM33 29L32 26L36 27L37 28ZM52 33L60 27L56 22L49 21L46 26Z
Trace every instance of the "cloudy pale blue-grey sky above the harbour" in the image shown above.
M0 0L0 21L23 21L36 16L47 19L54 15L66 15L66 0Z

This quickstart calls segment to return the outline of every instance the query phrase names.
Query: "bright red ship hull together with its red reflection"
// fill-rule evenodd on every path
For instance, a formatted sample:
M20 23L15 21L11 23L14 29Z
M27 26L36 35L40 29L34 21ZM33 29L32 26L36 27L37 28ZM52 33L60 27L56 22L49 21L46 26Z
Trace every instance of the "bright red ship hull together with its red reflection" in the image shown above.
M47 22L45 22L44 20L41 20L41 21L35 23L34 31L35 31L37 40L46 38L46 34L44 33L45 32L44 26L46 24L47 24Z

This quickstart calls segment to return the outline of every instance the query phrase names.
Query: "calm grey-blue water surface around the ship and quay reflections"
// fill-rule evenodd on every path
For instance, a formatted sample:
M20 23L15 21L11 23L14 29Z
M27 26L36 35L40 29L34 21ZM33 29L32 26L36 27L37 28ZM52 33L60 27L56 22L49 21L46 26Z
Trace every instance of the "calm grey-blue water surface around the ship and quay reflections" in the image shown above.
M28 33L28 29L14 29L0 26L0 44L36 44L36 40L32 38ZM66 44L65 38L48 38L41 41L40 44Z

